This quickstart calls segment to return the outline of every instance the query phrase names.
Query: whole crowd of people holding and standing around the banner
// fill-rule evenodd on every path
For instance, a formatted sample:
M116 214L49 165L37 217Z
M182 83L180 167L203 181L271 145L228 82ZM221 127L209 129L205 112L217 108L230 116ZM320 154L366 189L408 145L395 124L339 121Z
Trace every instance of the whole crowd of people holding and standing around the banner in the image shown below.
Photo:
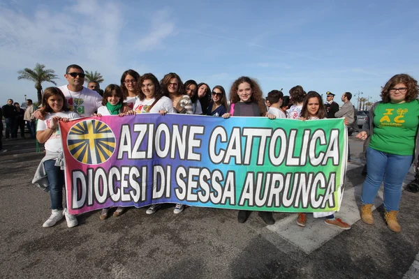
M62 195L64 172L62 146L59 138L59 121L68 121L83 116L117 115L120 117L138 113L197 114L219 116L228 119L234 116L258 116L269 119L297 119L309 121L325 118L344 118L346 125L354 121L354 109L351 104L352 94L345 92L341 96L344 105L334 101L335 94L326 93L326 102L316 91L306 93L297 85L289 90L289 96L279 90L267 93L266 100L258 82L251 77L239 77L230 87L229 95L221 85L210 86L195 80L182 82L176 73L168 73L160 81L152 73L138 74L135 70L126 70L121 77L121 84L110 84L100 96L96 91L83 86L84 70L78 65L70 65L64 75L68 84L45 89L42 107L31 112L31 118L38 119L36 138L45 143L45 158L41 161L34 183L50 190L52 214L43 227L51 227L66 218L68 227L78 225L77 218L63 207ZM413 160L417 163L418 148L416 140L419 122L418 83L409 75L395 75L383 87L381 101L374 104L369 112L369 121L365 123L357 137L369 140L367 149L367 177L362 186L362 221L373 224L372 206L381 182L384 182L385 222L389 229L400 232L396 215L401 199L402 182ZM9 100L3 116L6 119L6 137L16 137L14 123L17 123L18 107ZM10 107L12 109L10 109ZM32 119L33 117L33 119ZM26 116L23 119L28 121ZM14 121L14 122L13 122ZM390 143L390 144L389 144ZM348 161L351 160L348 149ZM161 204L153 204L147 214L155 213ZM121 216L126 209L118 207L113 216ZM176 204L174 213L181 213L183 204ZM250 211L238 211L239 223L246 222ZM102 209L100 219L109 216L109 209ZM275 220L272 212L259 212L265 223L272 225ZM325 224L350 229L351 226L334 212L314 214L325 217ZM297 225L305 227L306 214L299 213Z

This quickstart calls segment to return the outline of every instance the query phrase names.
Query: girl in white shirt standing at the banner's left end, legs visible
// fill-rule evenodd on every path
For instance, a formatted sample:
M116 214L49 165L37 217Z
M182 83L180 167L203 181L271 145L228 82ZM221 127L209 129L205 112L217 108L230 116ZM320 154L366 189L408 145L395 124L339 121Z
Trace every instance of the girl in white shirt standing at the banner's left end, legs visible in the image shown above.
M58 123L59 121L68 122L69 119L79 117L78 114L68 109L66 103L64 103L65 99L64 93L57 87L45 89L41 109L43 120L38 119L36 140L41 144L45 143L45 157L41 161L40 167L38 167L38 172L43 169L46 173L52 209L51 216L43 223L43 227L52 227L64 216L66 216L68 227L78 225L75 216L68 213L67 209L63 210L64 171L58 165L58 159L62 158L59 154L63 151Z

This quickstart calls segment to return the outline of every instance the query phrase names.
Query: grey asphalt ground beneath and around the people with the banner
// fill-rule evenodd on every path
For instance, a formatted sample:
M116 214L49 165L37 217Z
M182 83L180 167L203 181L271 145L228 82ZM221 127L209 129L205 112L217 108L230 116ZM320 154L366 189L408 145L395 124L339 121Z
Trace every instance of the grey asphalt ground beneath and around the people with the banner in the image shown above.
M348 204L359 203L363 181L362 142L351 136L350 143ZM0 278L419 278L419 194L403 191L399 234L385 226L382 206L374 226L354 219L348 231L313 218L302 229L288 213L274 213L274 226L256 213L239 224L230 210L189 207L175 215L173 205L104 221L95 211L78 216L78 227L62 220L43 228L49 195L31 185L43 152L34 140L3 141L3 148ZM306 239L293 241L298 234Z

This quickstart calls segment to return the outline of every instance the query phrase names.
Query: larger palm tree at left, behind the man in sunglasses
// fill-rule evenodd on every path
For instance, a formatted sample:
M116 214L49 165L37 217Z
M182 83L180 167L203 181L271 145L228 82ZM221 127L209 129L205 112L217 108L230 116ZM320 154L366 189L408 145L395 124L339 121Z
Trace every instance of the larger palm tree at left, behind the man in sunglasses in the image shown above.
M24 68L24 70L18 70L17 73L20 75L17 77L17 80L31 80L35 82L35 88L38 91L38 103L42 103L42 86L43 82L51 82L54 85L57 85L54 80L58 78L55 75L54 70L45 69L45 65L36 63L34 70L29 68Z

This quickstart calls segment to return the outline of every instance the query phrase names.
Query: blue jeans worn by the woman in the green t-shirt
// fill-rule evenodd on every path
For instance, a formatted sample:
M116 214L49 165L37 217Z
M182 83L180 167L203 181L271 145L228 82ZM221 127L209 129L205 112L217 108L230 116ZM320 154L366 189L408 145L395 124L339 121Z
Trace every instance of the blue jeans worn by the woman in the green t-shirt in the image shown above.
M362 185L362 204L373 204L384 181L384 208L399 210L402 183L409 172L413 155L395 155L367 148L367 177Z

